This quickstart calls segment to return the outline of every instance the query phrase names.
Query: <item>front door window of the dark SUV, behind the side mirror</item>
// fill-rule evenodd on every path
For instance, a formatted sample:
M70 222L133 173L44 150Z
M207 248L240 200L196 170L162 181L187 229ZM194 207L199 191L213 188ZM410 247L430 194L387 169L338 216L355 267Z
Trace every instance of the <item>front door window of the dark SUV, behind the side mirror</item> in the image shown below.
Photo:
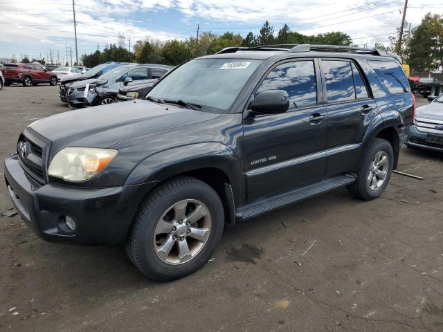
M287 62L273 68L255 95L267 90L284 90L291 100L290 109L317 104L314 62Z

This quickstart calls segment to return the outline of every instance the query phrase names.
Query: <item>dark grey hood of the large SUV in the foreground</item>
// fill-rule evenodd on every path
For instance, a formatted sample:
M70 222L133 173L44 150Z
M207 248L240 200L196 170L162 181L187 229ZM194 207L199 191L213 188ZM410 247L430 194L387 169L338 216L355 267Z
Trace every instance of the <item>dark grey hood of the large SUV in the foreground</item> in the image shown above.
M39 120L30 127L53 142L51 151L55 153L66 146L110 147L218 117L219 114L136 100L67 111Z

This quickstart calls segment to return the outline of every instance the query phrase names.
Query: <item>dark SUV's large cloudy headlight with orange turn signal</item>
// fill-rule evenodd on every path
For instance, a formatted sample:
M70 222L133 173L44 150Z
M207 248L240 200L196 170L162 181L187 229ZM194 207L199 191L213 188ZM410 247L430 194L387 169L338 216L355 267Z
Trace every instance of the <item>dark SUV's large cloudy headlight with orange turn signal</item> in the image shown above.
M65 147L51 160L48 174L69 182L86 181L105 169L116 155L113 149Z

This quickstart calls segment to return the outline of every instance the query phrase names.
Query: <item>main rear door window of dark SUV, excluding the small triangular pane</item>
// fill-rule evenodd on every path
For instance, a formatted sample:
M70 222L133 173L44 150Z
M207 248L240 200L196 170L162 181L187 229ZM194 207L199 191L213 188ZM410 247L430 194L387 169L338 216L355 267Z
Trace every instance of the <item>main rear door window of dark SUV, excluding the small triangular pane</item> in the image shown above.
M351 63L323 60L322 67L326 79L327 100L329 102L354 100L355 91Z

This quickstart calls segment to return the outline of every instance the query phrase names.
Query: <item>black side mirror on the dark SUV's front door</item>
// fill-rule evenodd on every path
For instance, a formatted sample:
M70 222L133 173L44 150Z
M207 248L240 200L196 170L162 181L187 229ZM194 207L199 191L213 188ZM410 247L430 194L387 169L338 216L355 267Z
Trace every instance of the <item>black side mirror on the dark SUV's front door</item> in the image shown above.
M289 109L289 95L284 90L268 90L259 93L251 102L254 113L284 113Z

